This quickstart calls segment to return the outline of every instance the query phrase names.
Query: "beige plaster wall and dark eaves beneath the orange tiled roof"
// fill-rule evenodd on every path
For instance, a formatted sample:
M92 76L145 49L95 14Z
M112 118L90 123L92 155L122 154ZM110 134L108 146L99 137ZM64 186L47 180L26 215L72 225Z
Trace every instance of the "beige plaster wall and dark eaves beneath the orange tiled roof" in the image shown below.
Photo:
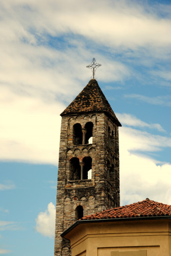
M171 220L80 224L65 237L72 256L171 256Z

